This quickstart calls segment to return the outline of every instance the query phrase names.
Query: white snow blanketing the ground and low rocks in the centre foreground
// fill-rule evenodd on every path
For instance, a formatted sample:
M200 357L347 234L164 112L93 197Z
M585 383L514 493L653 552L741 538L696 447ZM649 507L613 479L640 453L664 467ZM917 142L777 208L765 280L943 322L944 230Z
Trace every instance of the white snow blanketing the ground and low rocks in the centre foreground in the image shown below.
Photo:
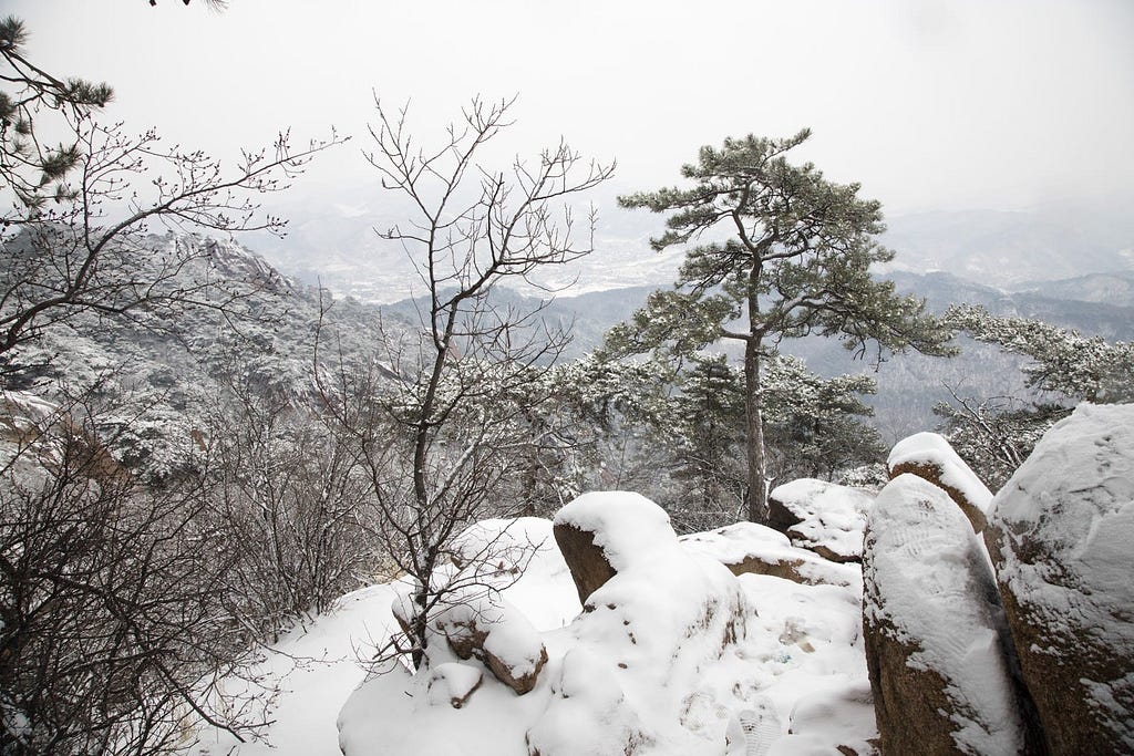
M489 571L501 580L505 613L526 617L547 648L549 661L534 689L516 695L480 662L451 656L438 656L420 674L391 665L362 686L364 672L349 661L332 663L325 674L312 665L278 664L287 690L266 733L276 746L271 753L330 755L341 742L348 756L528 756L534 748L542 756L583 756L620 754L627 746L684 756L725 754L727 732L735 753L829 754L838 745L869 753L866 740L877 732L862 702L869 683L857 566L830 564L841 578L835 585L737 578L722 562L748 551L775 546L793 559L823 560L751 524L678 542L665 512L636 494L582 496L557 521L593 529L617 554L619 572L592 594L586 611L553 540L545 537L548 520L482 523L454 547L459 560L493 541L507 542L503 551L513 557L511 546L528 544L522 577L510 574L507 561L502 568L492 562ZM451 579L454 569L442 577ZM330 656L352 657L356 646L365 656L395 627L395 589L367 591L373 593L352 594L353 603L347 597L310 628L322 638L335 636ZM352 640L353 632L363 632L362 640ZM304 639L288 638L279 651L290 653ZM465 696L455 707L454 698ZM336 737L330 710L338 706ZM755 725L743 744L747 750L735 750L743 722ZM758 730L759 744L751 739ZM228 753L230 745L219 741L208 753ZM262 753L269 753L263 744L252 744L234 756Z

